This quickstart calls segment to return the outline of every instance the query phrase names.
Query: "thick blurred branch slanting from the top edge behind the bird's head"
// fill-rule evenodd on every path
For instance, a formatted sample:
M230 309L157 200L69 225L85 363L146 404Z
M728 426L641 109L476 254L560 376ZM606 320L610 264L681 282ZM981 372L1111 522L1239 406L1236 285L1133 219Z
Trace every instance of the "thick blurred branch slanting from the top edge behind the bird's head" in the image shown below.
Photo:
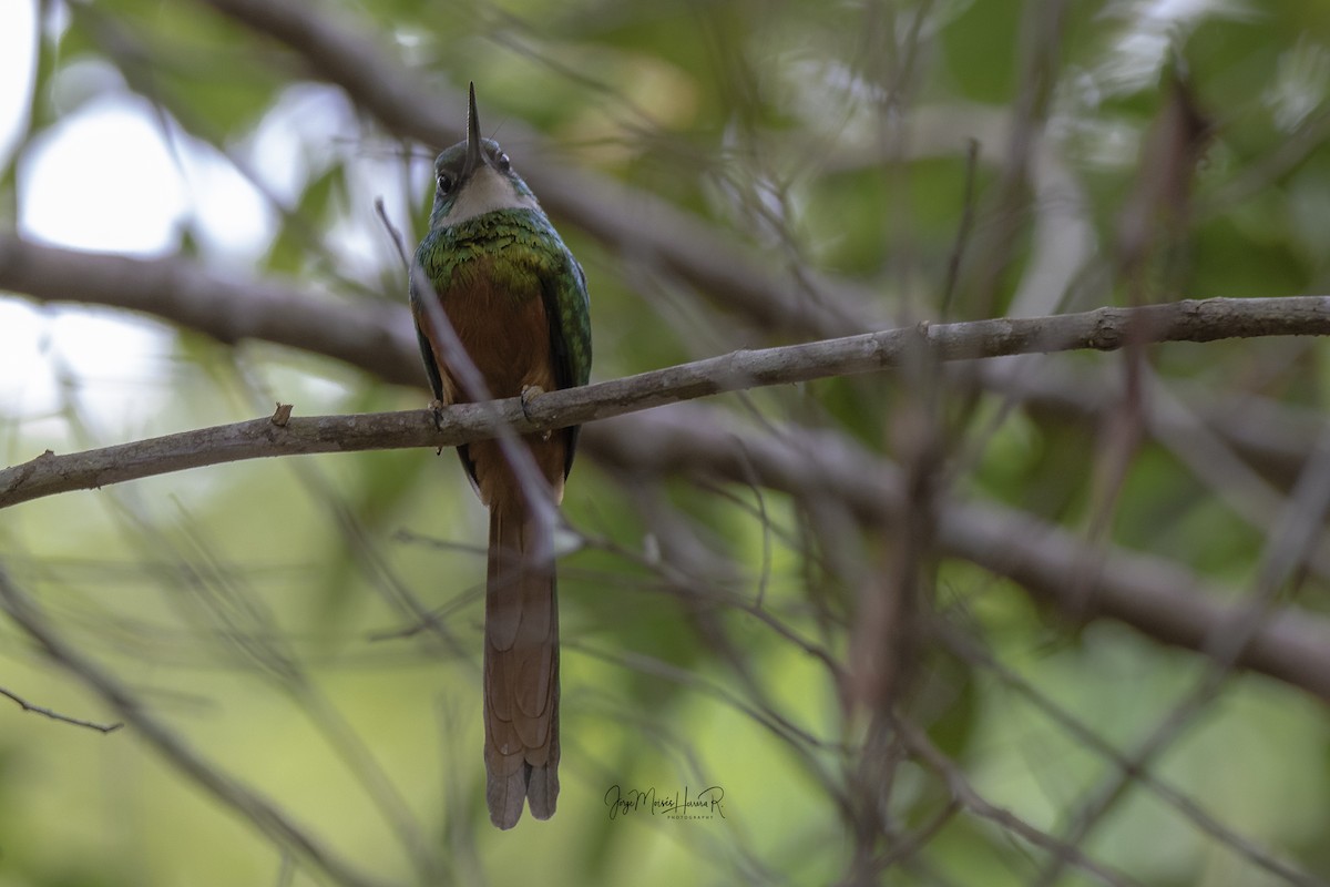
M428 81L399 64L368 36L363 23L326 5L278 0L202 0L246 27L290 47L318 77L336 84L391 133L434 148L464 137L460 92ZM481 85L483 86L483 85ZM876 305L863 287L845 281L782 273L706 219L669 201L609 178L545 160L551 150L516 121L505 140L525 146L517 164L523 178L555 217L565 218L608 247L650 263L742 311L767 328L834 336L879 326L862 306Z

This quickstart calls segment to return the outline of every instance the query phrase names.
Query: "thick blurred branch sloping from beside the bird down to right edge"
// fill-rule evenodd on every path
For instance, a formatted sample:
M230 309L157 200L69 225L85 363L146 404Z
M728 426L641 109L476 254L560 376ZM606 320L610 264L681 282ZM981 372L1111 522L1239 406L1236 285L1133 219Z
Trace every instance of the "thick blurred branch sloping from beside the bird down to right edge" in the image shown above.
M907 519L900 472L831 432L742 432L701 408L680 407L591 427L583 443L597 460L640 475L743 484L755 479L805 504L823 497L843 501L868 525ZM944 556L1015 581L1067 618L1117 620L1156 641L1206 654L1220 633L1244 616L1242 608L1222 602L1234 597L1228 589L1169 560L1092 545L1012 508L942 497L938 547ZM1330 701L1330 621L1302 612L1274 613L1234 664Z

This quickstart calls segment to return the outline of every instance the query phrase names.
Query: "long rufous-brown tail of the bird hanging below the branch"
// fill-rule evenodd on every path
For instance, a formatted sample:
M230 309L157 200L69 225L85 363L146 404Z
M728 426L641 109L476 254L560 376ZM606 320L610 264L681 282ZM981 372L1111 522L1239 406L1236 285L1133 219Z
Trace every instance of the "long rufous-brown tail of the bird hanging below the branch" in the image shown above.
M521 499L520 496L517 497ZM512 828L559 799L559 601L553 539L525 503L492 503L485 581L485 803Z

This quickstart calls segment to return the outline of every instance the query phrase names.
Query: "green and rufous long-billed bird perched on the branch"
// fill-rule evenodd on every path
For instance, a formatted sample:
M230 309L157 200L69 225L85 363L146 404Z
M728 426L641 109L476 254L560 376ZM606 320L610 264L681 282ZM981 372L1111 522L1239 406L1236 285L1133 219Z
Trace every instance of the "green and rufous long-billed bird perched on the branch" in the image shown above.
M411 313L436 408L521 398L525 410L541 392L591 376L587 277L508 154L480 136L475 82L468 94L467 138L434 164L434 207L412 262ZM515 436L507 448L499 439L458 447L489 509L484 762L485 805L499 828L517 824L524 803L548 819L559 799L549 516L563 500L577 435L569 427Z

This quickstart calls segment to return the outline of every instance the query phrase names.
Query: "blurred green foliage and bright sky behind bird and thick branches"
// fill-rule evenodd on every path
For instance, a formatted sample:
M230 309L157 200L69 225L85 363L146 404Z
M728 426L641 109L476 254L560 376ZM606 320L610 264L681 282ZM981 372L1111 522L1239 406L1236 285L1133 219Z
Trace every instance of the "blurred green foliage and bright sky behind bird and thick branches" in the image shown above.
M263 33L253 9L273 4L5 3L32 9L13 32L32 63L0 82L19 121L0 145L3 230L286 282L313 297L311 330L321 303L402 313L374 202L418 238L442 144ZM1330 7L273 8L400 70L452 137L476 82L484 128L535 170L587 267L595 379L923 319L1326 291ZM1204 154L1170 129L1184 112ZM606 182L641 209L609 233L579 209ZM813 313L653 254L648 198ZM424 403L423 374L403 386L81 301L0 299L8 464L274 400ZM814 310L829 305L849 319ZM1323 883L1323 698L1049 606L931 524L943 499L1001 507L986 519L1057 525L1068 536L1040 544L1083 540L1107 570L1153 556L1217 600L1325 628L1325 547L1289 564L1279 535L1317 467L1322 355L1315 339L1174 344L730 395L622 426L714 432L664 468L646 467L656 442L618 459L589 430L564 509L564 790L551 822L509 834L481 798L485 520L447 453L32 501L4 512L0 559L136 705L370 883ZM745 471L762 440L809 483L843 447L927 489L883 525L838 488ZM883 618L884 600L919 614ZM9 622L0 649L0 686L117 719ZM0 884L336 880L132 729L0 718ZM612 786L721 786L724 818L612 818Z

